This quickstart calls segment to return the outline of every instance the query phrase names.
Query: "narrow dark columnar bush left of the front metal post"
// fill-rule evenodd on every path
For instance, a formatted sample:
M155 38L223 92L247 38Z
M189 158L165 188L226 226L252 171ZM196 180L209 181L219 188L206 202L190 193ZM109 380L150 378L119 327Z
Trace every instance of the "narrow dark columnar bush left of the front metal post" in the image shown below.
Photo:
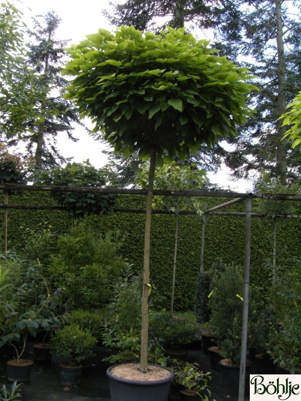
M210 293L210 275L201 272L197 278L195 315L199 324L209 321L210 309L208 307Z

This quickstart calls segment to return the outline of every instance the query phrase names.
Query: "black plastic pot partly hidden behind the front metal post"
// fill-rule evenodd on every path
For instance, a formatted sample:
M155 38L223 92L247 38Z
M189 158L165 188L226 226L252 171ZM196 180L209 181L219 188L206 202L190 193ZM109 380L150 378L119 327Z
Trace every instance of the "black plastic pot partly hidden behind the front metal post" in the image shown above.
M228 359L221 359L219 361L221 367L222 386L226 390L238 391L239 390L239 365L229 365L225 361ZM246 375L245 375L245 391L250 388L250 373L252 362L247 360Z

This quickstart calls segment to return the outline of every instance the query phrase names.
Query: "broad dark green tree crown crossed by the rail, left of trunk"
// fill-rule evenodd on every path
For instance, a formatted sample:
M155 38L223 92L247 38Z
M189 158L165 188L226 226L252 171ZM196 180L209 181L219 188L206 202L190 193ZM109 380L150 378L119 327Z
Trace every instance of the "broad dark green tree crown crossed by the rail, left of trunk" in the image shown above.
M83 163L67 163L65 167L39 171L36 179L43 185L103 187L107 182L107 175L105 169L97 169L86 160ZM52 194L58 204L73 211L75 217L108 212L116 206L113 194L91 192L52 192Z

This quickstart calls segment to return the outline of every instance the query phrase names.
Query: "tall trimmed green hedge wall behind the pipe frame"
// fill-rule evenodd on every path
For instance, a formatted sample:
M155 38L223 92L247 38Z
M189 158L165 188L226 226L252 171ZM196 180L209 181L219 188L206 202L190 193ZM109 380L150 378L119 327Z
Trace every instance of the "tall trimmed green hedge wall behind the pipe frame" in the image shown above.
M0 193L0 196L2 194ZM226 199L227 200L227 199ZM223 203L225 199L212 198L209 206ZM24 191L9 196L11 205L55 205L47 192ZM258 200L254 200L254 207ZM120 195L122 208L145 209L145 196ZM244 211L244 203L233 205L228 211ZM45 222L58 235L66 233L72 224L71 214L64 211L13 210L8 212L9 248L22 253L26 229L41 230ZM108 230L119 230L124 236L122 256L133 264L138 273L143 266L144 215L110 213L108 216L87 216L85 225L102 234ZM42 224L41 224L42 223ZM244 218L234 216L207 216L205 234L204 266L209 268L217 259L225 263L244 263ZM3 227L3 213L0 213ZM300 257L300 219L282 219L277 223L277 261L288 256ZM177 276L175 309L193 310L195 284L200 269L202 219L199 216L179 217L179 238L177 255ZM263 264L272 260L272 228L269 219L252 218L251 225L251 282L268 283L269 268ZM3 239L3 229L2 229ZM175 242L175 217L154 215L152 221L152 245L150 277L154 287L154 302L169 308L172 286L172 271ZM54 247L55 252L55 247ZM163 302L162 299L165 298ZM162 303L163 302L163 303Z

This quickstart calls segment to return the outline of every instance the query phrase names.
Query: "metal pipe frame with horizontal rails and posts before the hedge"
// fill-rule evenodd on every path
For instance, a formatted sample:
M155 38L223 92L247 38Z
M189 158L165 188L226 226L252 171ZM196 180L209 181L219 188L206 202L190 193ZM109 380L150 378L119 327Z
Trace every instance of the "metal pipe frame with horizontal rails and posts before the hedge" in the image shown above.
M5 233L5 250L7 250L7 230L8 230L8 209L59 209L64 210L64 207L51 206L29 206L29 205L8 205L8 193L10 190L24 191L50 191L50 192L78 192L78 193L116 193L116 194L134 194L146 195L147 191L143 189L126 189L126 188L98 188L98 187L75 187L75 186L42 186L42 185L25 185L25 184L1 184L0 190L4 191L4 204L0 205L0 209L4 209L4 233ZM240 359L240 374L239 374L239 392L238 401L244 400L245 393L245 371L246 371L246 350L247 350L247 331L248 331L248 307L249 307L249 276L250 276L250 255L251 255L251 218L264 217L261 213L252 213L252 199L273 199L273 200L301 200L301 195L291 195L284 193L238 193L231 191L210 191L210 190L154 190L154 195L168 196L200 196L200 197L219 197L219 198L234 198L208 209L202 216L202 237L201 237L201 266L200 270L204 269L204 249L205 249L205 226L206 216L242 216L245 217L245 255L244 255L244 288L243 288L243 310L242 310L242 336L241 336L241 359ZM245 212L217 212L219 209L226 208L238 202L245 201ZM145 210L134 209L115 209L113 212L124 213L145 213ZM172 212L164 212L153 210L153 214L172 214ZM194 211L180 212L183 215L196 215ZM300 215L276 215L279 218L300 218Z

